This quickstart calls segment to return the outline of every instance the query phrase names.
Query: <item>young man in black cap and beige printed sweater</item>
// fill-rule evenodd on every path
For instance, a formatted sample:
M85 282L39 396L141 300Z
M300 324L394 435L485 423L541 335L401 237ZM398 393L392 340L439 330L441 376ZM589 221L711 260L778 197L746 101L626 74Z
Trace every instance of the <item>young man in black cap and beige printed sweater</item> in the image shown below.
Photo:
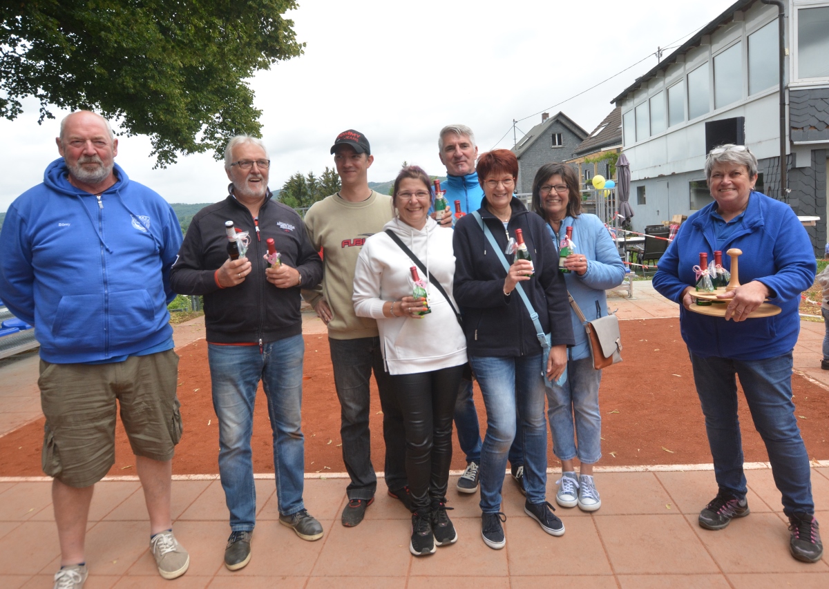
M342 525L353 527L362 521L377 488L368 424L372 369L383 411L385 484L389 495L400 499L407 508L409 491L403 418L390 392L376 321L356 316L351 302L357 257L366 239L382 231L391 219L391 197L368 186L368 168L374 157L365 135L353 129L344 131L337 135L331 152L342 188L315 203L305 215L311 243L322 248L324 273L322 284L313 291L303 291L303 297L328 326L334 383L341 407L342 460L351 477Z

